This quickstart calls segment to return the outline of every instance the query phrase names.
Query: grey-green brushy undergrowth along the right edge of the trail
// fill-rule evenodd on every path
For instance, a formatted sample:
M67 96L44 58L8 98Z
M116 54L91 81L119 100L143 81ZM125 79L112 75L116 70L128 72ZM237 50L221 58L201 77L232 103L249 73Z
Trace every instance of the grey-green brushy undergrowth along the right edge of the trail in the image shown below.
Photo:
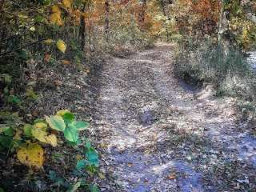
M216 96L237 98L242 113L255 115L256 72L237 47L190 39L176 50L174 73L188 83L214 85Z

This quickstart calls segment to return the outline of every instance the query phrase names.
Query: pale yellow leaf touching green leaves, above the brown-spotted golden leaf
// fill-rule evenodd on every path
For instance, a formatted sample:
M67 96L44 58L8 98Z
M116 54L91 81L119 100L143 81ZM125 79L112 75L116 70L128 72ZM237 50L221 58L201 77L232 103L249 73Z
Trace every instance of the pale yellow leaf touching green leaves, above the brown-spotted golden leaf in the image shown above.
M55 134L50 134L47 136L47 125L44 122L38 122L34 124L31 134L34 138L38 139L40 142L45 142L51 146L57 146L57 138Z

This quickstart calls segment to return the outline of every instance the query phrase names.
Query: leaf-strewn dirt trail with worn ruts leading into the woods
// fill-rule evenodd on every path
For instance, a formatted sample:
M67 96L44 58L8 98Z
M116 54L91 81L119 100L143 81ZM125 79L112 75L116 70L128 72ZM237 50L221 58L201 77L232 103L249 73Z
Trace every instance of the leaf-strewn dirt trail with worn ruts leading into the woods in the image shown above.
M234 101L174 78L173 49L157 44L103 66L94 131L114 179L102 191L253 189L256 142L239 132ZM226 175L230 166L241 181Z

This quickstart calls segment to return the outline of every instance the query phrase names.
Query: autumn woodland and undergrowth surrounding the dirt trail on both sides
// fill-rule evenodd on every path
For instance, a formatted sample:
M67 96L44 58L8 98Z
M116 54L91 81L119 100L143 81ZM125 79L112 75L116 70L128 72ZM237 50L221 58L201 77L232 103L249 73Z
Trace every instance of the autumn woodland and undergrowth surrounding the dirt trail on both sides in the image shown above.
M98 152L78 136L93 121L90 79L106 55L157 41L174 43L178 78L214 85L254 118L253 0L1 0L0 191L98 191Z

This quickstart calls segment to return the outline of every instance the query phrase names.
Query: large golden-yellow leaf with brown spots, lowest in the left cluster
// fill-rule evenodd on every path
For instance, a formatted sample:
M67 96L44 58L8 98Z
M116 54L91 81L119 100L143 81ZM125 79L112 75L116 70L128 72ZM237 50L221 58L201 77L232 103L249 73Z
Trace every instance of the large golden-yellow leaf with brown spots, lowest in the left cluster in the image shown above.
M38 143L30 143L27 147L18 150L18 160L26 166L42 167L43 150Z

